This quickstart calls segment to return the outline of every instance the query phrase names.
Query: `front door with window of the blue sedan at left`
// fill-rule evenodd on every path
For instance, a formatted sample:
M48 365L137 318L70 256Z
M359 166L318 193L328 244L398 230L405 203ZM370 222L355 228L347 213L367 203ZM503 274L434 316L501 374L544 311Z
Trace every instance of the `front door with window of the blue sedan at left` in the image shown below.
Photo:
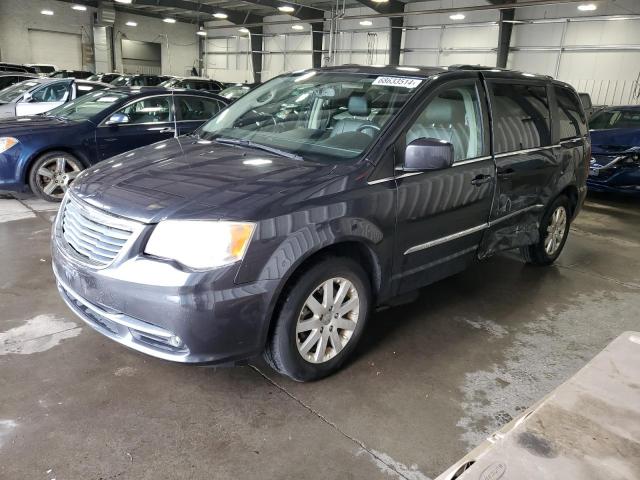
M106 125L103 122L96 129L96 145L100 160L167 140L175 135L173 101L170 94L136 100L117 113L126 116L126 123Z

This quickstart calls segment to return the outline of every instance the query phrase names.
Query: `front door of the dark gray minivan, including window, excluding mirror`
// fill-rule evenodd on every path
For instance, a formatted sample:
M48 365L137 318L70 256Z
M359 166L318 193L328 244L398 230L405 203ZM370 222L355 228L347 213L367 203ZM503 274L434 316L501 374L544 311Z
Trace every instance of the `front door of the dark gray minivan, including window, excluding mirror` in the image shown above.
M453 166L397 172L396 293L462 270L475 258L494 193L486 98L477 76L438 87L397 144L435 138L453 144Z

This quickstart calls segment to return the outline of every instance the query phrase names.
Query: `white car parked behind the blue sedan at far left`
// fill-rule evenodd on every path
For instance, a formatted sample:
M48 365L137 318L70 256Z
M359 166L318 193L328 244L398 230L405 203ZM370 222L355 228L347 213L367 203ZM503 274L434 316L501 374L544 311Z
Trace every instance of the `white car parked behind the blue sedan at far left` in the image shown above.
M100 82L73 78L33 78L0 91L0 118L48 112L82 95L109 88Z

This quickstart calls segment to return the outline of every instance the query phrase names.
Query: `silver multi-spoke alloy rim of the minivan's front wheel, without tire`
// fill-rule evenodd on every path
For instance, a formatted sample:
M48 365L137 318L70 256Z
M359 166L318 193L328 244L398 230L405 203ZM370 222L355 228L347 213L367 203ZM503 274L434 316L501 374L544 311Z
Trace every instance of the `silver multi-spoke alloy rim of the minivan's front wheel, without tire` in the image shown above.
M360 299L346 278L318 285L305 301L296 323L298 352L310 363L324 363L347 345L358 322Z

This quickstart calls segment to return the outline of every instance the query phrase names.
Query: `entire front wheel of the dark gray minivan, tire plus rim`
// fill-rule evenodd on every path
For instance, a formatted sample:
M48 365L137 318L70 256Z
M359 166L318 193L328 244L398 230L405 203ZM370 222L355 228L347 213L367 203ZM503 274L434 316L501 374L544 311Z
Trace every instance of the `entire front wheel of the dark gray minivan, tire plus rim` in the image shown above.
M333 300L340 302L343 311L352 307L347 313L341 314L336 306L326 308L333 303L324 297L329 281ZM329 288L326 291L330 291ZM338 296L342 298L337 299ZM358 263L338 257L320 260L296 274L282 293L265 360L274 370L298 382L331 375L356 349L371 304L369 277ZM306 323L298 327L299 321Z

